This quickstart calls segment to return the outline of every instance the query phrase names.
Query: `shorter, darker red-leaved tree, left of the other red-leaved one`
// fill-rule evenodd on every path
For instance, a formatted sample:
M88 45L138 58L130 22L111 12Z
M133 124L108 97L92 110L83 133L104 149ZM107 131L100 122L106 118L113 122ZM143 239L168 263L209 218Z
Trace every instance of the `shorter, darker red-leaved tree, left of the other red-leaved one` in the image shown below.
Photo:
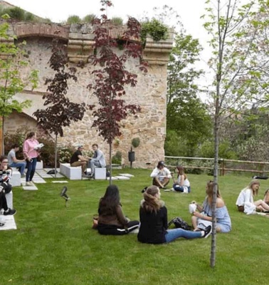
M68 81L77 81L76 68L68 68L68 57L63 45L58 39L53 40L50 67L55 72L53 78L46 78L45 85L48 86L48 94L43 95L46 109L36 110L33 115L38 120L38 125L54 133L55 138L55 175L57 167L57 138L63 137L63 128L69 127L72 121L82 120L85 113L85 103L73 103L66 97L68 92Z

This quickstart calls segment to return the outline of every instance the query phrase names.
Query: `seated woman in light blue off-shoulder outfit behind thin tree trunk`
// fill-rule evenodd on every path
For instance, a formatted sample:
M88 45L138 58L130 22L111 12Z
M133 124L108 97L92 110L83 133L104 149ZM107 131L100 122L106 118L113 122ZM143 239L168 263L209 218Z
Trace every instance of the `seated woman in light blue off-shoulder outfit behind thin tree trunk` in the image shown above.
M221 197L221 193L217 187L216 198L216 232L230 232L231 231L231 218L228 213L228 209ZM198 211L193 212L191 217L191 223L194 227L194 231L204 229L208 225L212 225L212 201L213 201L213 189L214 182L209 181L206 184L206 199L204 199L203 207L193 201L196 204Z

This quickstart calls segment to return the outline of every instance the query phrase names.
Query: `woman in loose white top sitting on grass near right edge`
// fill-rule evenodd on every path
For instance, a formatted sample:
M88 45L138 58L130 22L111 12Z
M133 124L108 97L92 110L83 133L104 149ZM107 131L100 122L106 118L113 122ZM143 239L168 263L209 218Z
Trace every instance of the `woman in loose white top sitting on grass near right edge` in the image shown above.
M244 212L246 214L255 214L256 211L269 211L269 205L266 204L265 201L262 199L254 201L254 196L258 195L259 187L260 181L252 180L246 188L241 190L236 200L236 205L239 212Z

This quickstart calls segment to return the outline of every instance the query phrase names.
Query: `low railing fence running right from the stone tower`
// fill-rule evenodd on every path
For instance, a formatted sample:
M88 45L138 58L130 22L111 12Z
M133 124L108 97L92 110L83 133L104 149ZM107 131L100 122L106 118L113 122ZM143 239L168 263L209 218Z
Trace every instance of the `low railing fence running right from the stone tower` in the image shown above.
M199 170L200 172L208 171L213 173L214 159L209 157L165 156L165 162L168 167L182 165L186 170ZM269 172L269 162L226 160L219 158L218 171L220 175L225 175L228 172L252 172L258 175L265 175Z

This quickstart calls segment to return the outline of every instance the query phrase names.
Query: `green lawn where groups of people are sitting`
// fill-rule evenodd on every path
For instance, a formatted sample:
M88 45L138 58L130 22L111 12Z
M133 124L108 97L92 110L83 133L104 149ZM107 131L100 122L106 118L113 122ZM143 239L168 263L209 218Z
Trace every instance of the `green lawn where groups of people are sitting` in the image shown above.
M125 214L139 218L141 190L150 170L114 170L135 175L117 181ZM162 192L168 218L190 223L188 205L202 202L207 175L189 175L191 193ZM211 239L179 239L171 244L137 242L136 234L101 236L91 229L106 181L69 181L69 207L59 193L63 184L38 185L38 191L14 188L18 229L0 232L0 284L268 284L269 219L237 212L236 198L250 177L219 178L232 219L232 232L217 235L216 266L210 267ZM261 180L259 198L268 187ZM172 182L170 182L172 186Z

